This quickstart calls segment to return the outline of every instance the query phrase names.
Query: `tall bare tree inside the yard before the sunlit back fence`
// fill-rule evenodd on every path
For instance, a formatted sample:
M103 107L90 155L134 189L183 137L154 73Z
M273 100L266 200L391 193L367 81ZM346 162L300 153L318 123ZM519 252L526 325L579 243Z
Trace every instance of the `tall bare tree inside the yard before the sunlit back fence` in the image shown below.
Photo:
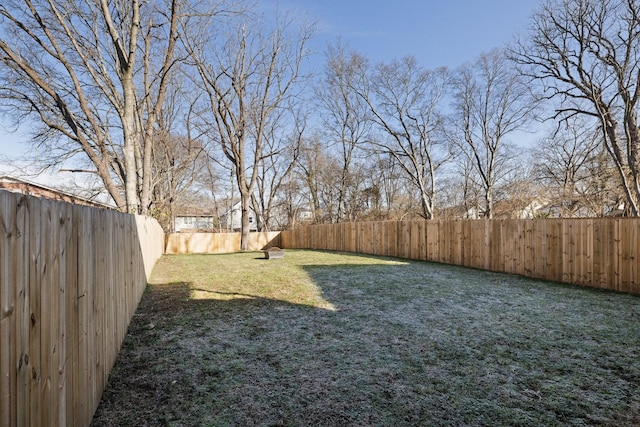
M213 145L231 165L242 210L241 248L249 248L249 213L260 162L274 155L265 144L265 132L287 100L295 96L301 63L312 27L292 32L292 20L266 24L244 15L224 34L212 22L187 21L201 30L187 37L200 88L207 96L202 119L210 128Z

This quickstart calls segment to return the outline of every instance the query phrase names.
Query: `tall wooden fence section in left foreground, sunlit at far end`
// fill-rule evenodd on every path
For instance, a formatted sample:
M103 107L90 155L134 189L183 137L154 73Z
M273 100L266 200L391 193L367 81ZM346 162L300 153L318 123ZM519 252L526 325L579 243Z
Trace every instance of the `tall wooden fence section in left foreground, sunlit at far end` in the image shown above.
M89 425L163 244L152 219L0 191L0 426Z

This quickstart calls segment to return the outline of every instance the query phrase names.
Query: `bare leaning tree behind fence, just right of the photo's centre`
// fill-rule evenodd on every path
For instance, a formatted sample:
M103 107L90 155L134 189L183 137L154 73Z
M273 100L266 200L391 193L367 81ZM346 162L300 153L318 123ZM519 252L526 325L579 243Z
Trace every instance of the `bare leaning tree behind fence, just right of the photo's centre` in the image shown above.
M448 72L425 70L413 57L379 64L368 73L359 70L352 89L369 106L382 130L380 140L370 143L393 156L419 192L421 215L434 215L436 171L448 158L440 137L439 104L445 94Z

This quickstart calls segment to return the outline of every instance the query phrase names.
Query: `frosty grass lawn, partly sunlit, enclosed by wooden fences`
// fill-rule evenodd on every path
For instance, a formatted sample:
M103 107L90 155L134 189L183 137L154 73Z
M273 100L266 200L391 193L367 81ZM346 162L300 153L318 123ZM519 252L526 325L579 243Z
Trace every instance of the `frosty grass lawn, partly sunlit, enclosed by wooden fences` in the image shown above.
M161 258L92 425L640 425L640 297L261 257Z

